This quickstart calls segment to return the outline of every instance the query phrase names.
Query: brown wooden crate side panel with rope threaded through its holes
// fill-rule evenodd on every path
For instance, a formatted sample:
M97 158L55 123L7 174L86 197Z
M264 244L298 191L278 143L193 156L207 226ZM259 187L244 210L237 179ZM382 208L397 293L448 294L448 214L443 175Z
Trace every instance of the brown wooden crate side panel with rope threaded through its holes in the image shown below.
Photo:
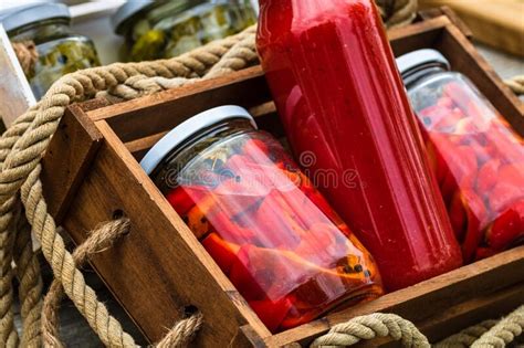
M269 335L145 172L139 169L143 176L137 178L128 169L130 155L124 158L104 136L106 143L77 190L64 226L82 243L86 231L112 220L115 212L130 218L130 233L95 255L92 264L146 337L160 339L186 306L205 316L199 346L227 346L248 323L259 335Z

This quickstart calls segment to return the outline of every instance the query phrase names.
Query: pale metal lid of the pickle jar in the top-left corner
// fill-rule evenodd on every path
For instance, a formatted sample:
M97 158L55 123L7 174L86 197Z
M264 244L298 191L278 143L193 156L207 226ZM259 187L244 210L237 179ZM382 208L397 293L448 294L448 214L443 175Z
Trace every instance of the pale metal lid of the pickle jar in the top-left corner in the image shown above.
M71 20L69 8L63 3L33 3L0 11L0 22L7 32L51 19Z

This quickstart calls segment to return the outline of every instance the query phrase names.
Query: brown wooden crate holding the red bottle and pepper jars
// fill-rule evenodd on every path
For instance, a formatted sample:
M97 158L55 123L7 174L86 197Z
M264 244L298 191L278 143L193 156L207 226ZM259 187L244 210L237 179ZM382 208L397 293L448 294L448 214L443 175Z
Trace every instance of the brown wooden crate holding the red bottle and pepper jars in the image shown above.
M524 134L523 105L448 17L391 31L390 40L397 55L422 48L440 50ZM99 101L73 105L43 160L49 209L76 243L99 222L122 213L130 218L130 233L94 256L92 264L150 341L195 307L205 317L198 346L276 347L307 344L334 324L373 312L399 314L437 340L523 303L521 246L271 335L137 161L182 120L224 104L249 108L261 128L283 135L256 66L117 105Z

